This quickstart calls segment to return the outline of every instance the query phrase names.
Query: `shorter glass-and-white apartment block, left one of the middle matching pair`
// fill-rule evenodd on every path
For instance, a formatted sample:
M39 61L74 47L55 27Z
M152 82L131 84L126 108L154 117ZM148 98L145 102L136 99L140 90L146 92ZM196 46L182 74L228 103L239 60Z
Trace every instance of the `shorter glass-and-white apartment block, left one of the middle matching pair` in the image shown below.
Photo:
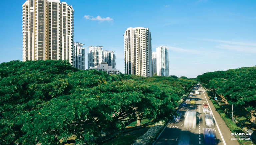
M103 46L89 46L88 69L98 66L103 62Z

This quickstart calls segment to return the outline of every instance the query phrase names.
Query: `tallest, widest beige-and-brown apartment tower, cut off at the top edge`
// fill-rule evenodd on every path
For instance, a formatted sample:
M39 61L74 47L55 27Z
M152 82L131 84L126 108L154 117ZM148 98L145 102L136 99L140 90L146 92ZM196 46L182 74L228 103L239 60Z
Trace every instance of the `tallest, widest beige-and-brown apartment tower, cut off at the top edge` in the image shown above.
M27 0L22 8L22 60L69 60L73 65L72 6L59 0Z

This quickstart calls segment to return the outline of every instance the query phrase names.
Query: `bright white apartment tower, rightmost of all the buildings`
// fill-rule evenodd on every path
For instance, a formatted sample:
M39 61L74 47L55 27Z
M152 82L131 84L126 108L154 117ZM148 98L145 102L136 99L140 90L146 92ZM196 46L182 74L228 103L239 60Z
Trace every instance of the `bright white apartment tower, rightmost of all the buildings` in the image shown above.
M169 76L168 48L160 46L156 48L156 71L158 76Z

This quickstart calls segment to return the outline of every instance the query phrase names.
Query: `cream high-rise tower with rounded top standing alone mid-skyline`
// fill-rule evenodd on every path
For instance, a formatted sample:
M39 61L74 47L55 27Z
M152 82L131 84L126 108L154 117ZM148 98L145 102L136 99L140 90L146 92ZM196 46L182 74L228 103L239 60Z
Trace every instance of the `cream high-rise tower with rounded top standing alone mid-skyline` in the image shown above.
M152 76L151 32L148 28L128 28L124 33L125 73Z

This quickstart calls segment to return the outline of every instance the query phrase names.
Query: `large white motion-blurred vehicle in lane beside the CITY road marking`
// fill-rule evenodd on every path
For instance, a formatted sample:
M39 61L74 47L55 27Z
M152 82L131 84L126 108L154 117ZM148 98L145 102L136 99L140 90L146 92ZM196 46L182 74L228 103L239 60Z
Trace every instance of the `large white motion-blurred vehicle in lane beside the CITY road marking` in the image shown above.
M186 111L184 118L185 129L196 129L196 111Z

